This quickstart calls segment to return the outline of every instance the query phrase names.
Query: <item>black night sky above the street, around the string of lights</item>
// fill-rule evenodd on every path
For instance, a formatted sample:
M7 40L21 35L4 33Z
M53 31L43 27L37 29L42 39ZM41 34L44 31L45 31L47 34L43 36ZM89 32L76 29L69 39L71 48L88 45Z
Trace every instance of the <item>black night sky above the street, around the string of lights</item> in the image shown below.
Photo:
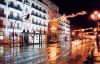
M76 28L89 28L95 27L96 22L90 19L90 14L94 10L100 11L100 0L51 0L54 2L60 10L60 14L72 14L81 11L86 11L87 14L84 16L77 16L70 18L71 26Z

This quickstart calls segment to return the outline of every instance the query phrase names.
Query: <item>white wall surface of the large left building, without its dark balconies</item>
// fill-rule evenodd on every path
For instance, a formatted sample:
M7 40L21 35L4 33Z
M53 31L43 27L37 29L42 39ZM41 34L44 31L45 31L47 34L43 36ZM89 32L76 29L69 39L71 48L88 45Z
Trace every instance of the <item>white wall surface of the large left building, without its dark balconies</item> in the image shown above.
M22 11L20 10L17 10L17 9L14 9L12 7L8 7L8 4L10 2L13 2L14 5L20 5ZM4 25L6 25L6 28L2 28L4 33L7 34L6 36L8 36L10 33L13 32L13 29L12 28L9 28L11 22L14 24L15 22L15 27L17 27L17 23L19 23L19 27L21 29L14 29L16 33L21 33L23 32L23 30L29 30L30 33L32 33L34 30L35 32L37 32L37 30L47 30L47 25L48 25L48 22L46 22L45 20L48 19L48 8L46 5L44 5L43 3L39 2L38 0L28 0L30 2L30 5L27 5L27 4L23 4L24 2L20 2L20 1L17 1L17 0L11 0L9 2L6 2L6 5L3 5L3 4L0 4L0 8L4 8L4 13L6 14L6 18L5 20L3 21L4 22ZM24 0L23 0L24 1ZM41 7L42 10L45 10L46 13L44 13L43 11L40 11L39 9L36 9L36 8L33 8L31 7L31 4L34 3L34 5L37 7ZM28 9L28 10L26 10ZM13 16L16 17L17 14L19 14L19 16L21 17L22 21L19 21L19 20L14 20L14 19L9 19L8 16L10 15L10 12L13 12ZM31 15L31 12L34 11L34 13L38 13L39 15L41 14L41 16L45 16L46 19L44 18L40 18L39 16L36 16L36 15ZM25 15L27 14L30 14L30 18L29 20L25 20ZM1 18L1 17L0 17ZM46 26L42 26L42 25L37 25L37 24L33 24L32 23L32 19L34 18L34 22L37 22L37 23L40 23L41 24L46 24ZM38 21L37 21L38 20ZM34 39L36 40L39 40L37 39L38 36L35 36ZM29 36L30 39L32 39L30 36Z

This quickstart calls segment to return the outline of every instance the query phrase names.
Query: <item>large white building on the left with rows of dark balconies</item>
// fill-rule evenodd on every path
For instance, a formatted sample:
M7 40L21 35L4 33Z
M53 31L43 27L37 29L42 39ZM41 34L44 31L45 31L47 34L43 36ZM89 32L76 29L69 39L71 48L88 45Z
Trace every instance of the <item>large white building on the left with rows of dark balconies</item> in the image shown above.
M28 42L39 43L39 35L47 31L46 19L48 7L39 0L0 0L0 40L11 41L14 34L15 40L28 36Z

